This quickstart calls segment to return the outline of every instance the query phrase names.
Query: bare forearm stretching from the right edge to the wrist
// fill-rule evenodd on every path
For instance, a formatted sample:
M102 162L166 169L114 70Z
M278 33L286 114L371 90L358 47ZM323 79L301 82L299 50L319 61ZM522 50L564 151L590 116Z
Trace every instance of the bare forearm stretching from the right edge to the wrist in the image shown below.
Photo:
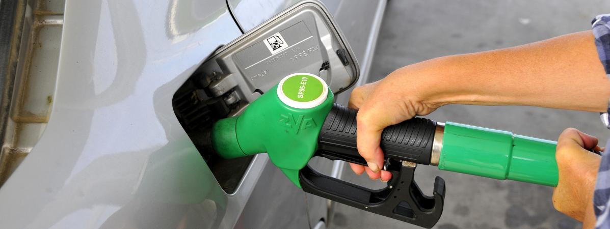
M514 48L441 57L407 66L434 85L431 104L531 105L605 111L610 81L590 31Z

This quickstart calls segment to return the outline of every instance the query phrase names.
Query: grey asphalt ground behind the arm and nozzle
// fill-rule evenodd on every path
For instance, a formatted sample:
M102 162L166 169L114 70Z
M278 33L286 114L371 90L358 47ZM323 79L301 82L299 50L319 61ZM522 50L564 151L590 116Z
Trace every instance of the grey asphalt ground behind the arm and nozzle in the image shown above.
M610 13L610 1L439 1L388 2L377 43L371 81L404 65L451 54L487 51L590 29L595 15ZM558 90L561 90L558 88ZM586 90L586 88L583 88ZM556 139L567 127L610 138L597 113L537 107L448 105L428 116L537 138ZM434 228L580 228L554 210L553 189L418 166L415 180L431 195L434 177L445 179L445 211ZM381 187L346 167L344 179ZM338 205L331 228L419 228Z

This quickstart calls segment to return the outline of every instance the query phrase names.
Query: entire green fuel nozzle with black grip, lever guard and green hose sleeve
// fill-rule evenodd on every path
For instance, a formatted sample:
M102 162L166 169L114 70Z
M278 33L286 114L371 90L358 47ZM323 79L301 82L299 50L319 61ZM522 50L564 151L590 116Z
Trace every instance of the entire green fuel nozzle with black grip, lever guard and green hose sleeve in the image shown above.
M386 189L370 190L328 177L307 166L310 158L366 164L356 147L357 111L332 101L323 79L292 74L239 116L215 123L212 146L224 158L266 152L306 192L428 228L442 213L445 183L437 177L434 195L423 195L413 180L417 164L500 180L558 183L554 141L424 118L382 132L384 169L392 172Z

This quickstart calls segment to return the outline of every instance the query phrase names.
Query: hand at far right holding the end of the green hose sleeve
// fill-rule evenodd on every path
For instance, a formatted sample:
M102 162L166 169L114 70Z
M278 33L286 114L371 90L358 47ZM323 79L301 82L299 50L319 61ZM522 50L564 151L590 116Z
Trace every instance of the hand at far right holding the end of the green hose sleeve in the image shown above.
M556 210L584 222L584 228L595 225L593 192L601 157L587 149L602 151L597 138L569 128L561 133L555 158L559 183L553 189Z

